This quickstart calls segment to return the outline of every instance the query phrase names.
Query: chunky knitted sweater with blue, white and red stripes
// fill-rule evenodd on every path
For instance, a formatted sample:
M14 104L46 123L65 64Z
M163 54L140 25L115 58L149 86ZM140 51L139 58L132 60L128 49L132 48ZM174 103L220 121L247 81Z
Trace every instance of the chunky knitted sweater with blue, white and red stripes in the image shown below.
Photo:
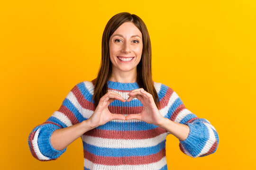
M174 122L188 125L189 136L179 140L180 150L193 158L214 153L219 144L215 128L206 119L198 118L185 108L177 93L170 87L154 82L160 100L160 113ZM137 83L108 81L108 91L119 93L128 99L128 93L140 88ZM89 119L94 108L91 102L94 85L83 81L75 85L55 111L44 123L36 126L28 137L32 155L40 161L56 160L66 151L53 148L50 136L58 128L69 127ZM140 113L141 102L115 100L110 103L113 114ZM166 136L164 128L137 119L111 120L85 132L82 136L84 170L167 170L165 157Z

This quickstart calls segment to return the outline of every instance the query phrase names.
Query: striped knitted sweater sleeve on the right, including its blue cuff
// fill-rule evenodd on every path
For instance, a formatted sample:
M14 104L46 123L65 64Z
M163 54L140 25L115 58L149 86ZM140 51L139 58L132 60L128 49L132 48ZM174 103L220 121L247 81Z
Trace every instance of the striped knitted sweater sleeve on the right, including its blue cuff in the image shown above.
M188 137L183 141L179 140L180 150L193 158L214 153L219 144L219 136L210 121L198 118L188 110L170 87L162 85L162 90L162 93L165 93L163 97L167 113L165 117L190 128Z

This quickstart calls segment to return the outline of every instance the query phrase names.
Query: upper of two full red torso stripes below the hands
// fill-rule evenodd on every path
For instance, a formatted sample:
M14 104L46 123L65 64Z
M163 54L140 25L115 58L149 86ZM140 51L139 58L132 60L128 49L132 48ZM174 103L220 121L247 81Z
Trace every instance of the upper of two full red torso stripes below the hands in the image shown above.
M162 127L156 127L149 130L138 130L138 131L115 131L115 130L102 130L102 129L91 129L85 132L83 135L108 138L108 139L147 139L159 136L166 133ZM138 135L139 134L139 135Z

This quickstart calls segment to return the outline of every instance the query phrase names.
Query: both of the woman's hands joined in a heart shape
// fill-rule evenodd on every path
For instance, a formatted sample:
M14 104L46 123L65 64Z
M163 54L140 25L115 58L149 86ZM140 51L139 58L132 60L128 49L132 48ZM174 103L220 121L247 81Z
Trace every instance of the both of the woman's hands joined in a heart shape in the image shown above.
M113 119L129 120L138 119L149 124L154 124L156 126L160 125L164 117L160 114L157 109L153 96L147 93L143 88L135 89L128 93L129 97L127 101L121 97L119 93L109 91L103 95L99 101L98 106L94 110L94 113L88 119L89 124L92 128L101 126ZM137 98L143 104L143 110L139 114L129 114L124 116L122 114L113 114L110 112L108 106L114 100L119 100L121 102L130 102L133 98Z

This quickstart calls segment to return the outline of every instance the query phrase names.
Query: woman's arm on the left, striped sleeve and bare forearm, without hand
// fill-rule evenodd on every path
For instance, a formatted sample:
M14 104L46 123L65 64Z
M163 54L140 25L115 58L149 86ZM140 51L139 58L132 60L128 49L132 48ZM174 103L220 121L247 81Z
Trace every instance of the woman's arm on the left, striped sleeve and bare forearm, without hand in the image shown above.
M81 85L75 85L60 109L29 134L30 151L39 161L56 160L66 151L67 145L91 129L81 114L81 102L84 99L79 89Z

